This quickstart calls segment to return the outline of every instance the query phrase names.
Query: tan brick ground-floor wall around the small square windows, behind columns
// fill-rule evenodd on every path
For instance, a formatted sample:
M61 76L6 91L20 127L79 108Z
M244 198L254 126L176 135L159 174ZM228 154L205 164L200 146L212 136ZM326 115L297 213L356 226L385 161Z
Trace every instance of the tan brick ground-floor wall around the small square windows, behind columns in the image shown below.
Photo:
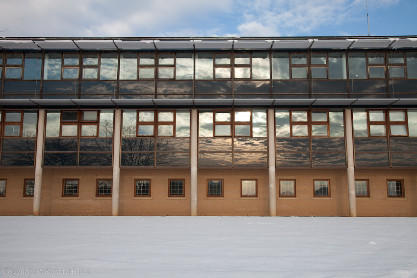
M33 198L23 198L24 179L33 168L0 168L7 179L0 215L32 214ZM358 216L417 217L414 169L355 169L369 179L370 197L357 198ZM63 178L79 178L79 196L62 197ZM43 170L41 215L111 215L111 198L96 198L96 179L112 178L111 168ZM134 197L134 179L149 178L150 198ZM185 197L168 198L168 179L185 180ZM207 197L207 179L224 179L224 196ZM240 197L240 179L258 180L258 197ZM279 179L296 179L296 198L279 198ZM330 198L313 198L313 179L330 179ZM387 179L403 179L405 198L388 198ZM276 169L278 216L349 216L346 169ZM199 169L198 215L268 216L267 169ZM190 169L121 169L119 215L190 215Z

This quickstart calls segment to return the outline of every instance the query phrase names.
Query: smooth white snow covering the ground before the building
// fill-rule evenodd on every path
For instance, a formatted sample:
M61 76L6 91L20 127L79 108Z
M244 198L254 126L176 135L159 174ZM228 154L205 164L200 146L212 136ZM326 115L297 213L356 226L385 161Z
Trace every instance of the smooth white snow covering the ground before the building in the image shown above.
M417 218L1 216L0 277L417 277Z

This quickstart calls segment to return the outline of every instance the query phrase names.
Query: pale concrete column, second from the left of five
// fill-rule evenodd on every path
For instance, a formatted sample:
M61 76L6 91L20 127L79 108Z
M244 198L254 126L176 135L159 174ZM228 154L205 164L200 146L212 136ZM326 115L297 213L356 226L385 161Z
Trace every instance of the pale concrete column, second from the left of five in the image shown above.
M111 197L111 214L119 215L119 185L120 185L120 133L122 124L122 110L114 111L114 134L113 134L113 182Z

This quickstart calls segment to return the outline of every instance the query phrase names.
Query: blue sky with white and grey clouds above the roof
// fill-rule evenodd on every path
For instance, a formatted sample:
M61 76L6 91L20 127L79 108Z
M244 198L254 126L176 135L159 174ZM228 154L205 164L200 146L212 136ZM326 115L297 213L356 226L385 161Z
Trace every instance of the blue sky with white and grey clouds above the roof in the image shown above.
M417 35L417 0L367 0L371 36ZM367 35L366 0L0 0L0 37Z

